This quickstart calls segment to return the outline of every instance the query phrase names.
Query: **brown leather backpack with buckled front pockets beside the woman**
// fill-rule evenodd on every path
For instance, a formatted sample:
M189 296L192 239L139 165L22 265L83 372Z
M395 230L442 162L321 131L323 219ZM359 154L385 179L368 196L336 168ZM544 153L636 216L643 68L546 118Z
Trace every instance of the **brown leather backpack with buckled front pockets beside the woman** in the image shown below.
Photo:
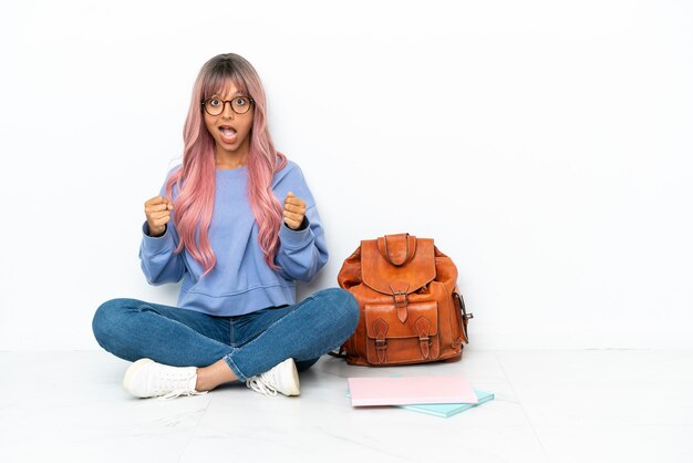
M433 239L410 234L361 241L344 260L339 286L359 301L356 331L338 357L359 366L456 361L468 342L457 267Z

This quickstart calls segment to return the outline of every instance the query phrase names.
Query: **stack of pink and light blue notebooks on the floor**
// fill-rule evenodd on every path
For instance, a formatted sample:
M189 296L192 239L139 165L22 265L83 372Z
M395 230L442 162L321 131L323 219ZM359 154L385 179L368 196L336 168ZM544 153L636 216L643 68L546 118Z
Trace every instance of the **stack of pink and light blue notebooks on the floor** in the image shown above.
M396 405L436 416L452 416L494 399L462 377L349 378L353 407Z

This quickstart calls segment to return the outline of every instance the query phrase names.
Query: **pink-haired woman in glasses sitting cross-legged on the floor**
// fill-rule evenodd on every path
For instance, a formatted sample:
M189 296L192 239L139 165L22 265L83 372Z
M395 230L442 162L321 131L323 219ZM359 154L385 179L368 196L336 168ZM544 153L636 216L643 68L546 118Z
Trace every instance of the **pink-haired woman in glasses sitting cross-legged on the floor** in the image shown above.
M178 307L113 299L96 310L99 344L134 361L135 397L193 395L244 381L298 395L298 372L355 330L353 297L332 288L296 303L328 253L300 168L277 152L257 72L237 54L200 70L183 164L145 203L139 258L152 285L183 279Z

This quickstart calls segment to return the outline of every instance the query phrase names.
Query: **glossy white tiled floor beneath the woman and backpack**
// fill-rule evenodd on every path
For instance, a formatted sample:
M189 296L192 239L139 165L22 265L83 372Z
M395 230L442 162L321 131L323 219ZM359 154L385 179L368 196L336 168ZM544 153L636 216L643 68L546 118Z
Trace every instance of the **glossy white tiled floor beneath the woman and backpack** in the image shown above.
M468 348L397 369L323 358L300 398L121 388L102 351L0 352L0 462L693 462L693 351ZM452 418L352 409L346 377L449 374L496 400Z

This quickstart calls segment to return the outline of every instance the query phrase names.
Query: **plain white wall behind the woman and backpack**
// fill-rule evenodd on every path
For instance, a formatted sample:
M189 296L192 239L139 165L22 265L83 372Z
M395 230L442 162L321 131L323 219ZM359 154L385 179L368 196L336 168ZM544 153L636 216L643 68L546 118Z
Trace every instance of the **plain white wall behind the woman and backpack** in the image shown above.
M318 199L302 295L408 232L457 264L473 346L693 346L691 2L1 8L0 350L95 349L102 301L175 303L139 269L143 203L226 52Z

